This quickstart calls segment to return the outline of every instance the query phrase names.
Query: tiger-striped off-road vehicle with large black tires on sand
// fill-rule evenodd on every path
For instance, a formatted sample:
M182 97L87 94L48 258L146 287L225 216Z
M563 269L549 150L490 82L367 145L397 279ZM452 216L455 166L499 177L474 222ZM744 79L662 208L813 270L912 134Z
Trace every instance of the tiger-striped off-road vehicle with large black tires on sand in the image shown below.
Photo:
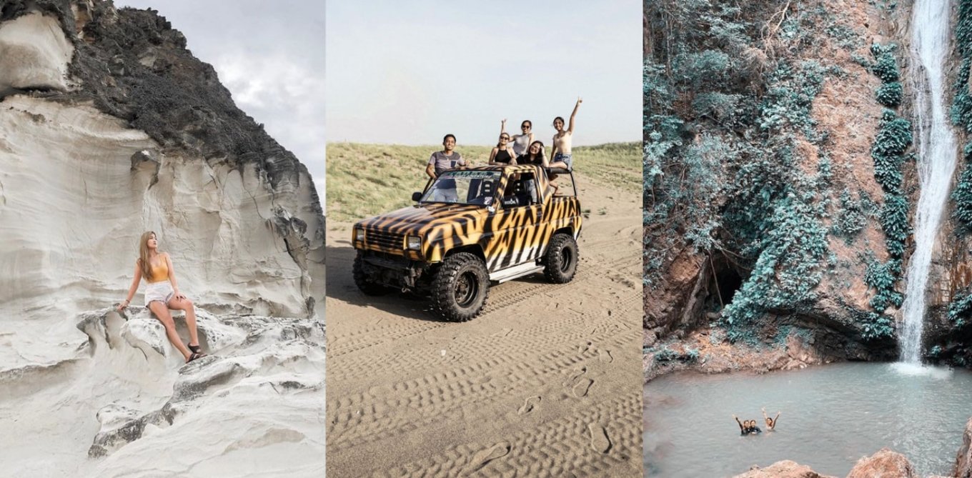
M365 294L413 290L444 319L469 321L490 283L543 271L562 284L577 268L580 202L573 173L551 185L537 165L452 169L430 180L416 204L358 222L354 280Z

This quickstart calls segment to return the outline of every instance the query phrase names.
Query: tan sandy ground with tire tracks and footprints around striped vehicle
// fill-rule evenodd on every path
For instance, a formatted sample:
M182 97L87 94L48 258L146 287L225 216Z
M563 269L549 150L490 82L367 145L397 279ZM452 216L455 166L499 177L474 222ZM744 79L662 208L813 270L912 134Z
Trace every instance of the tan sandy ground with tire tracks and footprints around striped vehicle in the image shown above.
M642 201L579 186L573 281L496 286L466 324L365 296L329 224L328 476L642 476Z

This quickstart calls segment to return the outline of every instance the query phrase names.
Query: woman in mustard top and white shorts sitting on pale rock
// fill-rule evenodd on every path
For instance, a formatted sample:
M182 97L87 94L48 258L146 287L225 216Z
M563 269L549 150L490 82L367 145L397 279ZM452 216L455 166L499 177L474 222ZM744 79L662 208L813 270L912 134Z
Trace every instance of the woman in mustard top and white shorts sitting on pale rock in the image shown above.
M139 257L135 260L135 279L128 288L128 296L119 304L119 310L128 307L132 296L138 290L138 284L145 277L145 307L155 314L158 322L165 327L165 335L169 342L179 350L186 359L186 363L194 359L206 357L199 347L199 337L195 329L195 309L192 301L179 292L176 284L176 274L172 267L172 259L167 253L158 252L158 239L153 231L142 234L138 240ZM186 325L189 328L189 347L187 348L179 338L176 324L172 321L169 309L186 311Z

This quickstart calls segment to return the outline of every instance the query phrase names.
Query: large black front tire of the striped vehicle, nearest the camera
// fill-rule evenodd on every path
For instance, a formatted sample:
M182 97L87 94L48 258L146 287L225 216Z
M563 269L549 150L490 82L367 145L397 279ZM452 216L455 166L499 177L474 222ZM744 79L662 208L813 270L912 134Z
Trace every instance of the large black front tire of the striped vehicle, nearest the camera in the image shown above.
M434 310L443 319L466 322L479 315L489 295L489 272L479 257L456 253L442 261L432 281Z

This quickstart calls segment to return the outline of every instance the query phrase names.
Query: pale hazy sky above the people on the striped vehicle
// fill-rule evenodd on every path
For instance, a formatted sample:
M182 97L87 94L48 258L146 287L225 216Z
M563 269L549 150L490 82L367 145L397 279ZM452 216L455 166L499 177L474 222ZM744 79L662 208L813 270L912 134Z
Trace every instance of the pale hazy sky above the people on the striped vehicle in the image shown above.
M642 139L642 1L330 1L328 141L496 144L500 121L549 143Z

